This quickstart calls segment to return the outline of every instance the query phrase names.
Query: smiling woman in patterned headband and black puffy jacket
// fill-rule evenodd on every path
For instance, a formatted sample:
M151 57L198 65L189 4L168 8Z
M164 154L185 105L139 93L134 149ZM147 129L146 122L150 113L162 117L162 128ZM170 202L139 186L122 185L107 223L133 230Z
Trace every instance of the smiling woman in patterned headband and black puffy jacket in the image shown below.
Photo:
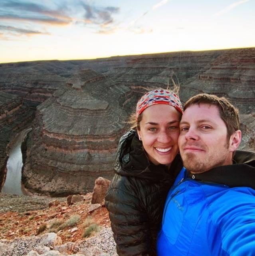
M147 92L137 103L134 130L119 142L116 174L105 198L119 255L156 255L165 198L182 168L181 116L176 93Z

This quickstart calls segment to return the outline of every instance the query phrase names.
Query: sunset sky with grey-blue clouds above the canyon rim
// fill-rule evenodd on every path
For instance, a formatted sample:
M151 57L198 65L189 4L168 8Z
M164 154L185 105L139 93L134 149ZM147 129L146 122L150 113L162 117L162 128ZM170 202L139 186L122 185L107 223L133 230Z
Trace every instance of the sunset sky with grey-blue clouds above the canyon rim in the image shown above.
M0 0L0 63L255 47L255 0Z

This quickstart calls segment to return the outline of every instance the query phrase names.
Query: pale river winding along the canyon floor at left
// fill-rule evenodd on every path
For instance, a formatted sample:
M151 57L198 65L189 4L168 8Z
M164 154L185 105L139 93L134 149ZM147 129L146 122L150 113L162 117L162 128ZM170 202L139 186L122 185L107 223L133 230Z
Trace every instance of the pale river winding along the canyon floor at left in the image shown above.
M6 166L6 180L2 187L3 193L24 195L21 188L21 170L23 166L21 144L30 130L32 130L32 128L20 132L10 147Z

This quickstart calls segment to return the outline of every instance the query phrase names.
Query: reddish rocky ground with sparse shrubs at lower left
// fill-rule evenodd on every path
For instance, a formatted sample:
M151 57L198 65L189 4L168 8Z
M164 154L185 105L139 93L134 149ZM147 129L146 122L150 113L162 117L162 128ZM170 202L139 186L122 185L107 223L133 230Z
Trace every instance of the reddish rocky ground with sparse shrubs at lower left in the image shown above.
M67 202L0 193L0 256L117 256L107 209L91 197Z

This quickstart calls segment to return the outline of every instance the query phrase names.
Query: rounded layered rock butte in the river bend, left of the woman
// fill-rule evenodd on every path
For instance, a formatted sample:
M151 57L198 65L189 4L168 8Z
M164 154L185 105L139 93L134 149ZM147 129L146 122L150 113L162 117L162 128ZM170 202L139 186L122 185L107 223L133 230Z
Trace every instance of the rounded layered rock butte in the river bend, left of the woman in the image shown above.
M127 114L107 78L89 69L78 78L37 108L22 176L30 190L82 193L93 189L98 176L112 177Z

